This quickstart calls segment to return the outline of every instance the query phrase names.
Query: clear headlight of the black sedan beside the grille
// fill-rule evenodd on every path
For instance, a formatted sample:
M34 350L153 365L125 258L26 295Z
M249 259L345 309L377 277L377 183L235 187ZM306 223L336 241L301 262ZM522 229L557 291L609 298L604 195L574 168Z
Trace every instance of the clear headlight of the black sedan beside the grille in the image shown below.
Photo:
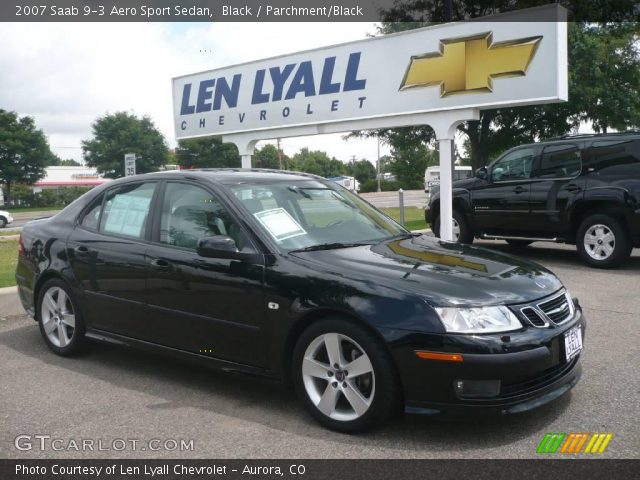
M507 307L435 307L447 332L495 333L522 328L520 320Z

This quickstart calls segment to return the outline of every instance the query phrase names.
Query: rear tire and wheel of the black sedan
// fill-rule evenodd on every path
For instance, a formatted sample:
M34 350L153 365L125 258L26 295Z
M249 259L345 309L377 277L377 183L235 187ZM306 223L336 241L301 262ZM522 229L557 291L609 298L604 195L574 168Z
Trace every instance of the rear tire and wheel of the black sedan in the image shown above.
M54 353L69 356L84 349L86 340L82 314L68 285L62 280L48 280L40 288L36 319L45 343Z

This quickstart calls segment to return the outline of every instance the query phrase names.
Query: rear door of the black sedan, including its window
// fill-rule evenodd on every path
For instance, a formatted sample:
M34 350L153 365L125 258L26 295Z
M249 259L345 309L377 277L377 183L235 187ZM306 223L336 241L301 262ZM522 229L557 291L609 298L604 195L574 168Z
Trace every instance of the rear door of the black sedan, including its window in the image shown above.
M87 323L133 338L148 335L145 253L157 182L107 190L91 204L67 241L73 273L83 288Z

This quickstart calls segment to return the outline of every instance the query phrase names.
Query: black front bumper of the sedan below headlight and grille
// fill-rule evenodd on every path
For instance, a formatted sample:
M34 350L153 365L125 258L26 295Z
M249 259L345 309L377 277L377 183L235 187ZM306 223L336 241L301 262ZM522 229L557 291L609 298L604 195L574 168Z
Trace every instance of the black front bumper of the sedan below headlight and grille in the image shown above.
M392 353L402 380L405 410L454 416L510 414L551 402L580 379L580 355L567 361L564 347L564 333L578 325L584 339L586 320L580 308L572 319L554 328L491 335L388 332L395 337ZM463 361L424 360L416 351L458 353ZM458 388L461 381L485 392L465 392Z

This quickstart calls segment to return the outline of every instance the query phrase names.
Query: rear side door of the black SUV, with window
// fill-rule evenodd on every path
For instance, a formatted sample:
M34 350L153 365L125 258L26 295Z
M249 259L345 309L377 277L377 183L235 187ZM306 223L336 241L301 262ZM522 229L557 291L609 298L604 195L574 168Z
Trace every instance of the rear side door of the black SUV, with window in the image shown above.
M581 173L580 144L544 147L531 184L531 234L552 237L571 230L568 212L584 196Z

